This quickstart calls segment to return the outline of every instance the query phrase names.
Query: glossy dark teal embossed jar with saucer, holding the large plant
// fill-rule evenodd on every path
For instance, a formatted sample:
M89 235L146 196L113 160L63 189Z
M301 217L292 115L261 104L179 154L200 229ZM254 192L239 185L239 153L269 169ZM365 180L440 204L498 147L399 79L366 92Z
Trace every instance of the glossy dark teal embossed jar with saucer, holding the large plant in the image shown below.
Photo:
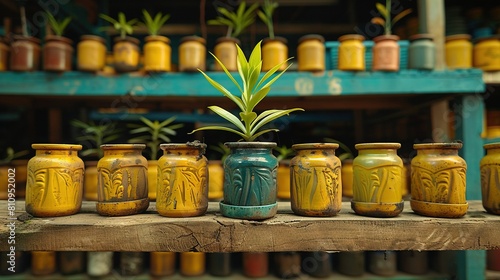
M273 142L228 142L230 154L224 162L222 215L261 220L276 214L278 159Z

